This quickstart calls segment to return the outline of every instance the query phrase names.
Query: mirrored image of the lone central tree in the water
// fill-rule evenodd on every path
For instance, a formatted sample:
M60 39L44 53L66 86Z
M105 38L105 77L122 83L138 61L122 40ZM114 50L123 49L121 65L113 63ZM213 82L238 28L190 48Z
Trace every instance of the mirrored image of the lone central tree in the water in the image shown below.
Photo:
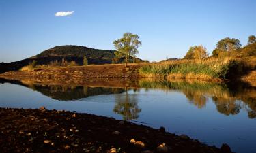
M138 106L138 100L136 94L128 94L126 88L126 94L118 94L115 96L115 107L113 112L121 114L124 120L133 120L139 118L141 109Z

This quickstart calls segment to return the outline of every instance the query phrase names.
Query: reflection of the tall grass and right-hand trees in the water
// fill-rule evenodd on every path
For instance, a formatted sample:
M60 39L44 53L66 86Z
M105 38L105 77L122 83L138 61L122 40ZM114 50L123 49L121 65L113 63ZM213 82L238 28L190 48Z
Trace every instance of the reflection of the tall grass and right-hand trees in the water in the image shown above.
M236 115L244 109L249 118L256 117L256 88L244 82L216 84L199 80L141 80L139 84L142 88L180 91L199 109L205 107L208 98L212 98L221 114Z

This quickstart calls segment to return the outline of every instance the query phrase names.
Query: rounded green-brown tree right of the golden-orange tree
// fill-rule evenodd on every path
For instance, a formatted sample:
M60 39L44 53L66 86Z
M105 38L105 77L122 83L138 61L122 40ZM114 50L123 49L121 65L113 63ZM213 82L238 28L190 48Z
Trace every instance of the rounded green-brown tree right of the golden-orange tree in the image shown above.
M242 45L240 43L240 40L226 37L218 41L216 49L222 50L222 51L232 51L232 50L237 50L241 46Z

